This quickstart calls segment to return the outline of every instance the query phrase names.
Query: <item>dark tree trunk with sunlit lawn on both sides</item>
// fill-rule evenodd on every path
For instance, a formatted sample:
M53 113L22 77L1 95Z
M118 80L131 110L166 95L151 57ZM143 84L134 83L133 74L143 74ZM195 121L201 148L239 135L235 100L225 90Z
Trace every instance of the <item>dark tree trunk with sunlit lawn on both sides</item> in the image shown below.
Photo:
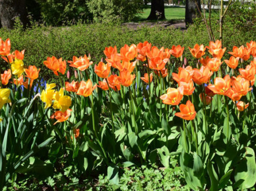
M147 20L165 19L164 0L151 0L151 12Z

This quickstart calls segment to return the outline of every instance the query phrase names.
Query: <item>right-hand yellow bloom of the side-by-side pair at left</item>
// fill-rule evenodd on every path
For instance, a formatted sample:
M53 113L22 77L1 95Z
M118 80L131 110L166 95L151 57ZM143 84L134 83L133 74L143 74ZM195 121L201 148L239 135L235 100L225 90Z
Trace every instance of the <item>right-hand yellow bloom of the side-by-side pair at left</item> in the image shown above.
M71 106L71 98L64 95L64 90L61 89L59 92L54 93L54 105L52 108L61 109L62 112L65 112Z

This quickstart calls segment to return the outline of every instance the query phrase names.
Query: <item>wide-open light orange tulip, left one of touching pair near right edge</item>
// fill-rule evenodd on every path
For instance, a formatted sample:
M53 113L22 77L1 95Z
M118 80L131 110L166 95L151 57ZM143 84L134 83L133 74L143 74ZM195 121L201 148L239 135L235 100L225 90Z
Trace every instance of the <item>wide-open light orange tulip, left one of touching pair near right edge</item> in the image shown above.
M217 94L225 95L228 89L231 88L230 75L226 75L224 78L217 77L214 79L214 85L208 85L208 88Z

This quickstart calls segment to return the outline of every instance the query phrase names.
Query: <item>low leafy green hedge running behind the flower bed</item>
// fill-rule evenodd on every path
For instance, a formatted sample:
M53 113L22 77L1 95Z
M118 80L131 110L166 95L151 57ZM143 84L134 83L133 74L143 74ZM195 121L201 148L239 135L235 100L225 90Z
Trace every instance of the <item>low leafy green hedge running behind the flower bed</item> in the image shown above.
M231 25L227 26L224 26L224 46L227 47L227 52L232 51L232 46L245 45L246 42L256 39L255 32L242 32ZM218 36L217 29L214 29L214 32ZM117 45L119 49L126 43L131 45L149 41L152 45L165 48L178 44L185 46L184 56L190 65L194 65L195 60L192 59L187 47L194 46L195 43L209 43L207 31L202 24L191 26L185 31L158 25L152 28L143 26L137 30L122 25L103 24L78 24L58 28L34 26L26 31L16 27L12 31L0 29L0 37L11 39L12 51L25 49L25 65L38 66L45 72L46 79L53 76L43 64L48 56L54 55L57 58L71 60L74 55L83 56L91 53L92 61L98 63L101 58L105 58L103 51L106 46ZM0 64L5 65L2 60Z

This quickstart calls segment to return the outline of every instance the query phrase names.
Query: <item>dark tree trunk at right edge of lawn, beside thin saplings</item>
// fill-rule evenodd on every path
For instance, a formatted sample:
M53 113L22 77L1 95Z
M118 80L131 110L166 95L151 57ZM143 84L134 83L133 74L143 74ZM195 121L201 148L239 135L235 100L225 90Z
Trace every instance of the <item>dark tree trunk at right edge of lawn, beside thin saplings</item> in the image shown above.
M201 9L201 3L200 0L186 0L186 9L185 9L185 22L186 26L193 23L193 19L197 16L200 16L200 12L198 11L198 8Z

